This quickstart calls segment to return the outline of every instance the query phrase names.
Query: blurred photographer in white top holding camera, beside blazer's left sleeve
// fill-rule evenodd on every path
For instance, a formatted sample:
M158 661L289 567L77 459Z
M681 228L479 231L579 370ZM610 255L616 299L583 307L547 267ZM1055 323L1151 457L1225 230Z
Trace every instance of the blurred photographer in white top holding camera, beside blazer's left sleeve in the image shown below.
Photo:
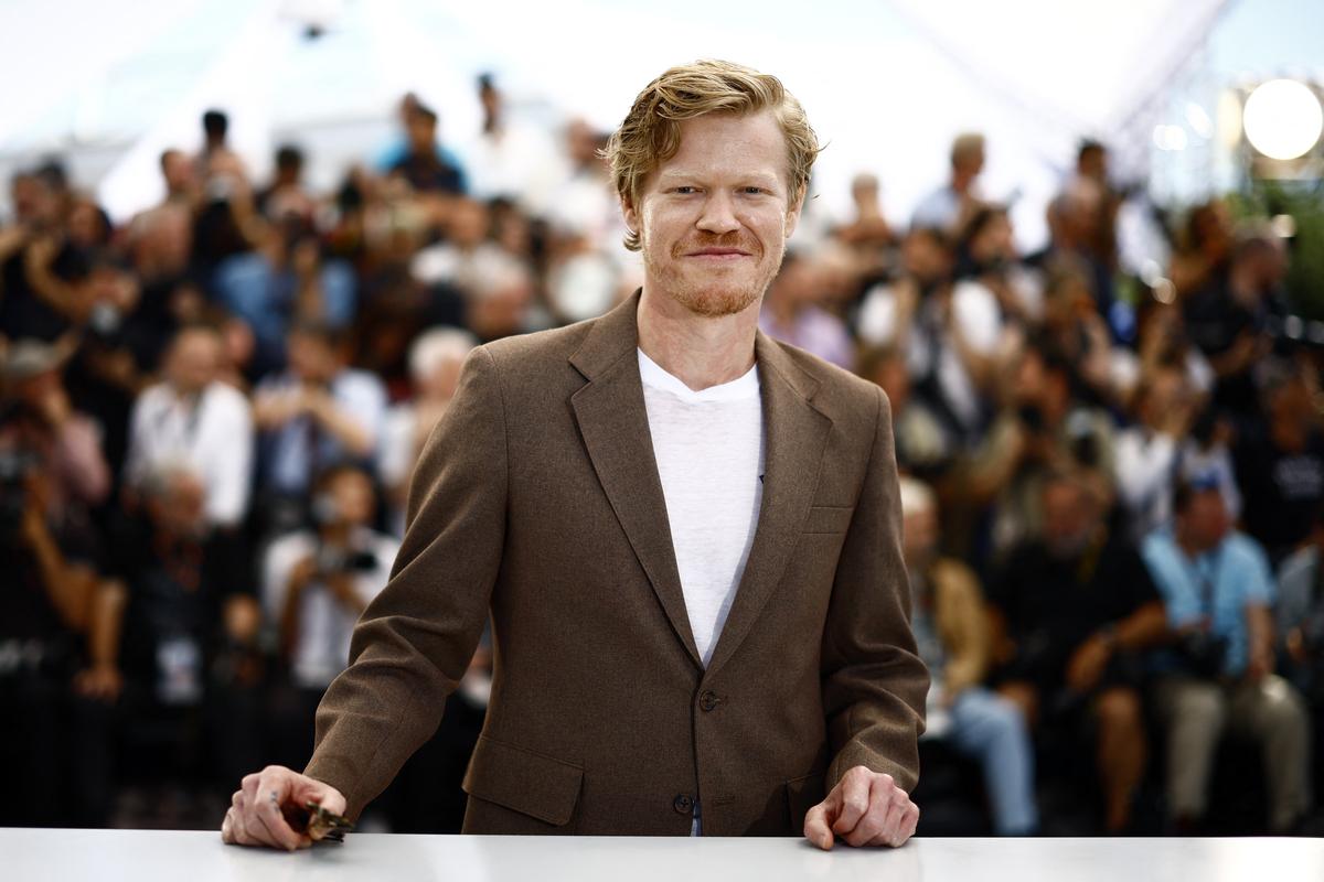
M371 529L375 510L368 475L335 465L316 480L314 529L281 537L266 553L262 604L289 669L275 693L274 747L293 768L307 762L322 693L348 662L354 625L391 574L399 543Z

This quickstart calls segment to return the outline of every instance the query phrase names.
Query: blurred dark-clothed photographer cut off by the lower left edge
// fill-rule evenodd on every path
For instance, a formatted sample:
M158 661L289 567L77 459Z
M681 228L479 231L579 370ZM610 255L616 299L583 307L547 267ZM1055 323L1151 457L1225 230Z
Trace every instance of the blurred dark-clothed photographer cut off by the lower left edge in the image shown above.
M16 373L9 354L0 381ZM36 443L45 423L12 390L0 387L0 754L20 762L0 776L0 826L98 825L110 793L103 700L119 684L102 665L79 670L85 635L101 631L97 543L56 504L54 460Z

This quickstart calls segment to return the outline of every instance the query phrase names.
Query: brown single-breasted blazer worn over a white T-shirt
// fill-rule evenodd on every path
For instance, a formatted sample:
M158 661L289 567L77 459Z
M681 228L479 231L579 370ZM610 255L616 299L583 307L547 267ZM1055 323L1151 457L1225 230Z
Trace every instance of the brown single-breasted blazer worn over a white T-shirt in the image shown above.
M928 673L876 386L756 342L753 547L707 670L639 381L638 295L466 362L387 588L316 715L307 774L357 816L441 719L487 621L466 833L798 834L850 767L919 774Z

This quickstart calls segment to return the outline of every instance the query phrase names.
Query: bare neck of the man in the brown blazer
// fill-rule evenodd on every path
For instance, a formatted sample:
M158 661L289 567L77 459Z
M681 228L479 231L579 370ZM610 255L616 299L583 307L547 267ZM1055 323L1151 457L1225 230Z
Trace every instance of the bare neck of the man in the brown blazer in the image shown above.
M695 391L739 380L753 366L760 300L736 315L710 319L645 284L637 319L639 349Z

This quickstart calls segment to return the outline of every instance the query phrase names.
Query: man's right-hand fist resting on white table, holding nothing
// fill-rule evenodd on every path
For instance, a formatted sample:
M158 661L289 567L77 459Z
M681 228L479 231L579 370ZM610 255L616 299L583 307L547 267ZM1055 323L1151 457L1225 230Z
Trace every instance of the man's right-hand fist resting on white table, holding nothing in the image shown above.
M837 782L828 799L805 816L805 838L831 849L834 837L847 845L899 848L915 834L919 807L891 775L855 766Z

